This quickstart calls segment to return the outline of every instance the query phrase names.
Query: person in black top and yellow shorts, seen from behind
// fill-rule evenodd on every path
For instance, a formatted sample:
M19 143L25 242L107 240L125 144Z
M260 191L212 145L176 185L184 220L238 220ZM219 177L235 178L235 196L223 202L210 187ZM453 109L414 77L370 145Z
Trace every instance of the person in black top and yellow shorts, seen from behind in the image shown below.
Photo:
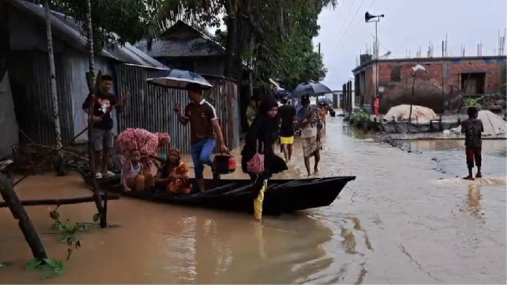
M282 106L278 108L278 117L280 117L280 147L284 151L286 163L291 160L293 154L294 141L294 118L296 117L296 108L290 105L287 97L281 100Z

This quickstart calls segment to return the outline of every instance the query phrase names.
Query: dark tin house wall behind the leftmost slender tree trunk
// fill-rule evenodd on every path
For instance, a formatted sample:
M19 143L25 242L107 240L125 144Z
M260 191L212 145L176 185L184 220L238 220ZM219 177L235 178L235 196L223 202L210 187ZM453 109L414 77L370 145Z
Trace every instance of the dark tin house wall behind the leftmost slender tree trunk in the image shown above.
M97 58L97 69L109 73L106 58ZM88 88L85 72L87 57L74 50L55 54L57 95L62 142L69 143L87 126L81 105ZM42 145L56 145L51 102L49 60L43 51L9 51L8 71L19 129ZM115 121L115 119L114 119ZM30 142L21 134L19 141ZM87 133L75 142L86 142Z

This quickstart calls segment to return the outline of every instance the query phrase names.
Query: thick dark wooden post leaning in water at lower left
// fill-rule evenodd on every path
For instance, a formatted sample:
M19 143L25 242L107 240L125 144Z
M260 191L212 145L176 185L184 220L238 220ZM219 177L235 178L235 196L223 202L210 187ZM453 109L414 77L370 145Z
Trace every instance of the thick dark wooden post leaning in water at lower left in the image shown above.
M32 221L26 214L26 210L23 207L22 202L19 201L14 188L12 188L12 185L10 185L6 176L3 176L1 173L0 194L3 200L6 201L7 206L10 209L10 213L12 213L12 217L18 220L19 229L22 230L23 236L32 250L34 258L39 260L48 258L46 251L44 251L44 247L42 246L41 239L39 238L39 235L37 235L37 231L35 231Z

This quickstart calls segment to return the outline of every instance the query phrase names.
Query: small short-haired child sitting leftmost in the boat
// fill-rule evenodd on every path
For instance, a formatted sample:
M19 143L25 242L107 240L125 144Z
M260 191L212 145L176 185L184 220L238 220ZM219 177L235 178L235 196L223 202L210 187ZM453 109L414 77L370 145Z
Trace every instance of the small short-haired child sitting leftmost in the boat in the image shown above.
M121 183L124 192L131 192L132 190L142 192L144 190L146 179L142 175L143 167L140 163L140 151L132 149L130 157L124 162L121 171Z

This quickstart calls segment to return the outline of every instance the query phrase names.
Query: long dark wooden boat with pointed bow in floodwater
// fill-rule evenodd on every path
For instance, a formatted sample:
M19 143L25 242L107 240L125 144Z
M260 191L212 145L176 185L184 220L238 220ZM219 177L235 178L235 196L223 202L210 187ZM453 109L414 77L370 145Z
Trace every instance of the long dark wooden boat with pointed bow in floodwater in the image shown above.
M92 186L92 177L88 168L78 167L77 170L85 183ZM263 212L267 215L278 215L292 213L296 210L330 206L346 183L354 179L355 176L334 176L315 179L270 180L263 202ZM253 212L253 187L249 179L206 179L208 190L190 195L169 195L169 193L158 189L151 192L123 192L120 175L99 179L97 183L103 190L119 193L126 197L182 206Z

